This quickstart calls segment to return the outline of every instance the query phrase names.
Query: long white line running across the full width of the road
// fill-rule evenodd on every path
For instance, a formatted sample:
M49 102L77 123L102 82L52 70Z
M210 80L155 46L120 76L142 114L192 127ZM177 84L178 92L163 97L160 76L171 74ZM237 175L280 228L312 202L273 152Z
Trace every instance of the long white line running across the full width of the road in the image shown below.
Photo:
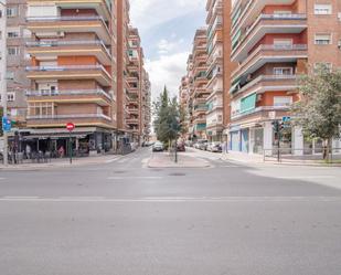
M105 197L60 197L60 198L39 198L39 197L0 197L0 202L341 202L341 197L156 197L156 198L131 198L115 199Z

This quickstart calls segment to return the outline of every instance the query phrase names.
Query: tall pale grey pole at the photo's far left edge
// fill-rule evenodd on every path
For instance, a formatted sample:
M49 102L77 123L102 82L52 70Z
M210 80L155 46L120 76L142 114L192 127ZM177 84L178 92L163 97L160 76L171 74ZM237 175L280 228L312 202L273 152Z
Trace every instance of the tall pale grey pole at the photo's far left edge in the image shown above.
M2 18L1 20L1 29L2 29L2 38L1 38L1 59L2 59L2 66L1 66L1 101L2 101L2 108L3 108L3 116L8 116L8 109L7 109L7 3L6 0L0 1L1 4L1 10L2 12ZM8 160L8 131L3 131L3 165L8 166L9 160Z

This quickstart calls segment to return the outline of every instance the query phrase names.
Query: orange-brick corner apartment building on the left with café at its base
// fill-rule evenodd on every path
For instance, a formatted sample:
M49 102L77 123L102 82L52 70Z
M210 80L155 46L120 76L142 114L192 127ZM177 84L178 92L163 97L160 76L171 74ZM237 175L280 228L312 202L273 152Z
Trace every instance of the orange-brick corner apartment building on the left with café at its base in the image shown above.
M68 149L65 125L74 123L73 149L113 148L116 129L116 1L28 1L26 125L33 150ZM35 148L39 147L39 148Z

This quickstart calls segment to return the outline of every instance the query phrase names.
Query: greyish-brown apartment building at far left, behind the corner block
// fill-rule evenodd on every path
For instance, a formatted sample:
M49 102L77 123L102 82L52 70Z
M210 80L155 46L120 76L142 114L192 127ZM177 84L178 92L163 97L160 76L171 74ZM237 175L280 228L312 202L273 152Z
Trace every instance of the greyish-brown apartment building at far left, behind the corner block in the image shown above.
M7 54L7 72L3 72L3 77L7 77L8 112L14 128L25 126L25 91L30 87L30 81L25 77L25 66L29 65L30 57L25 52L24 41L29 40L31 34L25 29L25 0L8 0L1 14L3 22L7 17L6 31L2 29L1 32L7 49L1 52Z

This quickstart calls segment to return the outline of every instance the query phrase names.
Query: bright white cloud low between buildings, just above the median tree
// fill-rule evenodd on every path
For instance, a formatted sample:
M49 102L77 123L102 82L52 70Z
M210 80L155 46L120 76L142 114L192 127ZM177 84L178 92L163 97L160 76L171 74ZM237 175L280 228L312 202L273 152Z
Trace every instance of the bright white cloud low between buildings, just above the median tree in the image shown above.
M157 60L147 60L146 68L150 74L153 99L167 85L172 96L178 96L181 77L185 74L189 52L160 55Z

